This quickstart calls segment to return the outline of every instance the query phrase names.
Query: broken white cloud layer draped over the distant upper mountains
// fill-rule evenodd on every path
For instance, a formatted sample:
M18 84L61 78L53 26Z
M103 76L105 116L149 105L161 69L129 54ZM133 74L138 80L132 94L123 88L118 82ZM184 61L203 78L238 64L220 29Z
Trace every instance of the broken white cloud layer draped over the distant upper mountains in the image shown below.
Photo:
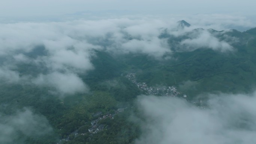
M243 18L237 20L232 17L229 23L234 24L240 19ZM115 54L142 53L161 59L172 53L173 46L167 43L168 39L158 37L164 30L161 28L168 28L168 33L175 37L197 28L194 25L177 30L176 22L176 18L144 17L0 24L0 58L3 58L0 77L8 82L29 79L37 85L49 84L64 94L82 92L88 88L79 74L94 69L91 63L92 58L95 58L94 50ZM222 52L232 50L232 46L206 30L180 44L185 51L203 47ZM36 77L21 76L15 69L18 64L43 66L48 68L48 72L39 73ZM51 79L55 82L50 82ZM76 82L77 88L74 88ZM70 92L65 91L67 88Z

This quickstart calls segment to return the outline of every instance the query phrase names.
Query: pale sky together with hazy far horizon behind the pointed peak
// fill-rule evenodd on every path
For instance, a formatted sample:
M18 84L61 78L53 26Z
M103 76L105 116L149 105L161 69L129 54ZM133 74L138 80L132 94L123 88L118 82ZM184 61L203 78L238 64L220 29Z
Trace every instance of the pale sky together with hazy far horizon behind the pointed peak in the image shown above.
M249 4L250 3L250 4ZM176 22L185 20L202 28L212 25L216 30L256 27L256 2L252 0L234 3L228 1L1 1L0 24L17 22L64 22L99 19L158 19Z

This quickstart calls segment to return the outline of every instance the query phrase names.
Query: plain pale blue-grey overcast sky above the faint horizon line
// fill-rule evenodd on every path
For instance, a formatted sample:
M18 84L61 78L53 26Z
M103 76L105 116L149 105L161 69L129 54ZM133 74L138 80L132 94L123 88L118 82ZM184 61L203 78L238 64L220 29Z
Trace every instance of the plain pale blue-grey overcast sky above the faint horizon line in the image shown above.
M255 5L255 0L1 0L0 17L63 15L85 10L129 10L148 14L254 15Z

